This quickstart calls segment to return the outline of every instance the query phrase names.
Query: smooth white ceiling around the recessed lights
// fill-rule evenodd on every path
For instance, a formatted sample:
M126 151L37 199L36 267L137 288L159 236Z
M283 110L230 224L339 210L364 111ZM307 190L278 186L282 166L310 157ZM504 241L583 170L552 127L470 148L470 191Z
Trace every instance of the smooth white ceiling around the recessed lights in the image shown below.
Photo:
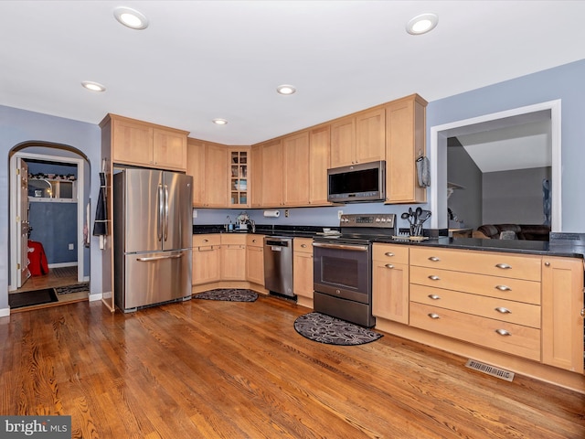
M118 5L150 26L122 27ZM409 35L426 12L439 25ZM583 1L0 1L0 104L250 145L414 92L434 101L585 59L583 16ZM297 93L277 94L283 83Z

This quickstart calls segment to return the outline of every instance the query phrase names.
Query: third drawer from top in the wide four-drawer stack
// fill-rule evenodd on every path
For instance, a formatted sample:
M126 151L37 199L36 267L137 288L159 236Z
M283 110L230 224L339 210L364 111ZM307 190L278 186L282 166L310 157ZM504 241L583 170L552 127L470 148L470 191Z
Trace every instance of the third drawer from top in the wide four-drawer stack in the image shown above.
M410 301L540 328L540 306L410 284Z

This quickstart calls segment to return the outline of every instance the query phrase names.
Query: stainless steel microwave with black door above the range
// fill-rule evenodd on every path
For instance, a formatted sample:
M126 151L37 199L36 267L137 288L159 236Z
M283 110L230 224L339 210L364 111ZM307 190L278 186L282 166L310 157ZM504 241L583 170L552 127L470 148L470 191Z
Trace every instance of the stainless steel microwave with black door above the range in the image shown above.
M327 200L334 203L386 199L386 162L327 169Z

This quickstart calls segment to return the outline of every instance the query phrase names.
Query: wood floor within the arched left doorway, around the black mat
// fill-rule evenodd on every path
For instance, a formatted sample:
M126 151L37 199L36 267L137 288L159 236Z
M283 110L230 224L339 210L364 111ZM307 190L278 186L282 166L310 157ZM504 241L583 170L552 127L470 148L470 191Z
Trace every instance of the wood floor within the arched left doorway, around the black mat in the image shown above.
M29 277L27 282L21 288L18 288L16 291L11 291L9 294L19 294L25 293L27 291L42 290L44 288L54 288L57 286L67 286L73 284L78 284L77 267L64 267L57 270L50 268L48 270L48 274ZM87 301L88 297L89 293L58 294L58 302L52 302L45 305L23 306L21 308L12 309L11 313L21 313L23 311L30 311L33 309L68 304L70 302Z

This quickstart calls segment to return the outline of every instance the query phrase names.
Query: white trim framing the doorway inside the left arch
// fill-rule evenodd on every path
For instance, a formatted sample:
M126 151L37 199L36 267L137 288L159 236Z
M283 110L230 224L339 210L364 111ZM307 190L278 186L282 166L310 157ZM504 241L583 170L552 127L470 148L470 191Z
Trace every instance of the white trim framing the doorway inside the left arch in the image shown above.
M35 153L22 153L16 152L14 155L10 156L10 218L11 220L14 218L16 214L16 190L13 190L13 187L16 187L16 158L20 157L23 159L33 159L33 160L43 160L48 162L57 162L57 163L72 163L77 166L77 176L78 176L78 200L77 200L77 280L78 282L87 282L89 279L86 279L83 273L85 272L85 264L84 264L84 257L83 257L83 249L84 246L82 245L83 242L83 220L85 215L85 208L84 208L84 199L85 199L85 192L84 192L84 163L85 160L82 158L73 158L73 157L64 157L60 155L44 155L44 154L35 154ZM13 221L14 222L14 221ZM10 228L10 284L8 285L8 291L15 291L16 290L16 277L18 275L18 271L16 269L16 245L18 240L18 230L15 227Z

